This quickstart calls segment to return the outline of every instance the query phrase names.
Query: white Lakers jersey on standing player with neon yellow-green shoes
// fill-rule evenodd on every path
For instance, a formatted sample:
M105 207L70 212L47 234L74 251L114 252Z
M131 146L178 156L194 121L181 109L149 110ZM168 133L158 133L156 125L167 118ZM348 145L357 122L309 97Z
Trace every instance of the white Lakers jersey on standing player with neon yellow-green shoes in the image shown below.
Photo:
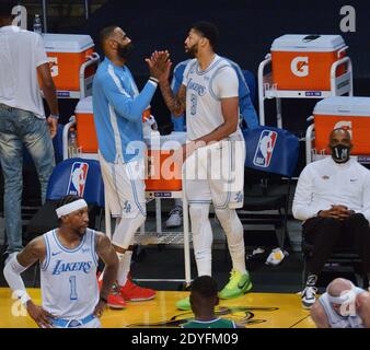
M206 70L192 59L184 71L186 86L186 127L189 140L212 132L224 122L221 98L238 97L238 75L231 65L216 55ZM238 127L239 129L239 127ZM240 129L230 137L241 137Z

